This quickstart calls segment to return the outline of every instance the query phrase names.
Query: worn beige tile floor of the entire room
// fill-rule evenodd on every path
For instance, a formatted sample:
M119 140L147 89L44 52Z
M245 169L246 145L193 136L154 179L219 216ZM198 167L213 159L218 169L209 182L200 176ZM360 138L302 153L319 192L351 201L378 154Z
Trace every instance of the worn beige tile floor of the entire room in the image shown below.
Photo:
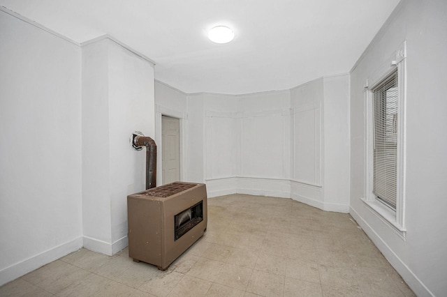
M350 215L291 199L208 200L205 236L167 271L78 250L0 296L415 296Z

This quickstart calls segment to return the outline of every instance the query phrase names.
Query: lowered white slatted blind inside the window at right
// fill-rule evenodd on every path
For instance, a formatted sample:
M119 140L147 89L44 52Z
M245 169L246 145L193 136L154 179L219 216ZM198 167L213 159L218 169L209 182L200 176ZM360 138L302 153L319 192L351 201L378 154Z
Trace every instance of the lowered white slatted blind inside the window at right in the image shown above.
M373 190L377 199L396 209L397 71L372 90L374 119Z

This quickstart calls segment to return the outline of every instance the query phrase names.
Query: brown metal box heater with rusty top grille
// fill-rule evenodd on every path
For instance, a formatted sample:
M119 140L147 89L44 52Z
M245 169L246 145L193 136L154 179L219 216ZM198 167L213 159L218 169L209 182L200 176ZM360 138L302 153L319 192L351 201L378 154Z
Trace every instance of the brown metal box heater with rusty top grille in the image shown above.
M162 271L207 229L203 183L175 182L127 196L129 257Z

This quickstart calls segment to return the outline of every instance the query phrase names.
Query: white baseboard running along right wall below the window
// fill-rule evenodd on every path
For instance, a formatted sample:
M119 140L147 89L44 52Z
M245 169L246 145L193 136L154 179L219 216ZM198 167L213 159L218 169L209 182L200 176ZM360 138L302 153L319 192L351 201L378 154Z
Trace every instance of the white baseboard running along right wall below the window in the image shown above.
M404 264L400 257L398 257L397 254L391 250L388 244L383 241L381 236L374 231L371 225L369 225L368 222L365 221L354 208L350 207L349 213L417 296L434 296L434 294L432 294L432 292L425 287L423 282L421 282L419 278L414 275L410 268Z

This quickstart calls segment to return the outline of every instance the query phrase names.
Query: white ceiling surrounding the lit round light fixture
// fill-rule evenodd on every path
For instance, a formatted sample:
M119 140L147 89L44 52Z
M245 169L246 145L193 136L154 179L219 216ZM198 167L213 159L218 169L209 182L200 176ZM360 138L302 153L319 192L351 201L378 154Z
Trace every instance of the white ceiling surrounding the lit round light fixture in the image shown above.
M0 0L78 43L110 34L185 93L291 89L349 73L400 0ZM207 30L235 39L219 45Z

